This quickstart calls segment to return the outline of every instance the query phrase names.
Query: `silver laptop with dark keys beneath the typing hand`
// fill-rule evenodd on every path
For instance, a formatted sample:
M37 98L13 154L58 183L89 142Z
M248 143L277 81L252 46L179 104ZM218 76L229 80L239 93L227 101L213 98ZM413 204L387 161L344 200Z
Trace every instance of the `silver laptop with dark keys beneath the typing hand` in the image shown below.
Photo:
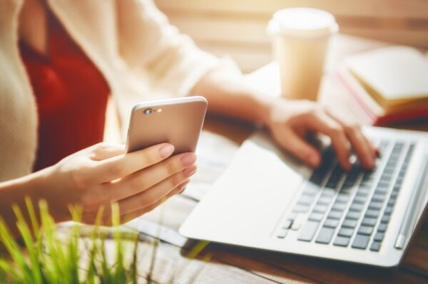
M180 233L248 248L394 267L423 222L428 133L365 127L374 170L349 172L328 144L308 169L259 132L246 140Z

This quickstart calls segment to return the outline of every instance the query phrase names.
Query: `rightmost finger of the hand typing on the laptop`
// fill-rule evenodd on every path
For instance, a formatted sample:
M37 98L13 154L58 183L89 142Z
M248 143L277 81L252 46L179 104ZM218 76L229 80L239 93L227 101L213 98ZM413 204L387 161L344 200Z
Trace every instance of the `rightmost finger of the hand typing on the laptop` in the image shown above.
M367 140L367 137L363 135L361 126L355 122L340 120L331 112L329 112L329 115L342 125L345 135L350 140L352 148L355 149L355 153L360 159L362 167L372 169L377 157L377 149Z

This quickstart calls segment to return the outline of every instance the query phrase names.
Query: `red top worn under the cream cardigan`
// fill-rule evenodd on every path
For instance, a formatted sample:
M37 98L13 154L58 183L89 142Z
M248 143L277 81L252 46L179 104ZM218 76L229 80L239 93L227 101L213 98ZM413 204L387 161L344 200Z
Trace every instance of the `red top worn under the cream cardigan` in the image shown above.
M49 12L48 19L48 56L19 43L39 113L35 171L103 140L110 92L103 75L61 23Z

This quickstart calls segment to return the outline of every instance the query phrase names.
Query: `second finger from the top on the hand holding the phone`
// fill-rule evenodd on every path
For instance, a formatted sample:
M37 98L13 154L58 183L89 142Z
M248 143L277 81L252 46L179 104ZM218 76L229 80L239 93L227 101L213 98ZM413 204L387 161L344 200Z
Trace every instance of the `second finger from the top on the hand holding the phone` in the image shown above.
M196 162L194 153L178 154L174 157L159 162L139 172L129 175L108 186L104 191L105 198L111 201L125 199L128 196L139 194L141 191L150 189L164 179L184 171L189 174L195 170L193 164ZM190 168L189 168L190 167Z

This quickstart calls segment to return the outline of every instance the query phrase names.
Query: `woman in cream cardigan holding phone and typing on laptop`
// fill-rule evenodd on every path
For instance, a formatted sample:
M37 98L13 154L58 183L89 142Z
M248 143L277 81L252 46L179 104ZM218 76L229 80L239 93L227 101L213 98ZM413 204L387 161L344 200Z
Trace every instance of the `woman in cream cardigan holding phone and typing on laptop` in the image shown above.
M320 154L305 142L308 132L330 136L345 169L350 145L364 167L374 164L376 149L358 125L248 87L152 1L2 0L0 62L0 215L9 224L11 204L23 206L24 196L46 199L56 221L70 219L68 204L81 204L86 223L117 201L126 221L189 182L193 153L170 157L173 146L159 144L125 155L123 145L98 143L109 93L123 125L138 101L200 94L210 112L263 122L310 167Z

